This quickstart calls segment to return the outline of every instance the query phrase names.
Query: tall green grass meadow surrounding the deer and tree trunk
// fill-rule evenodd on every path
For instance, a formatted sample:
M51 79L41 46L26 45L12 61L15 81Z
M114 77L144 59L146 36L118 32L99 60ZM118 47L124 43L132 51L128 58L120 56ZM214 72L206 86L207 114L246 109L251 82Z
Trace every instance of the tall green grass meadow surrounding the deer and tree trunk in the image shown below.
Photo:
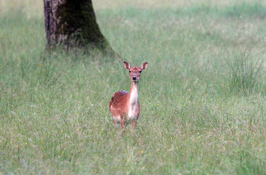
M108 109L123 60L49 55L43 1L0 1L0 174L266 174L265 1L93 2L112 48L149 62L135 137Z

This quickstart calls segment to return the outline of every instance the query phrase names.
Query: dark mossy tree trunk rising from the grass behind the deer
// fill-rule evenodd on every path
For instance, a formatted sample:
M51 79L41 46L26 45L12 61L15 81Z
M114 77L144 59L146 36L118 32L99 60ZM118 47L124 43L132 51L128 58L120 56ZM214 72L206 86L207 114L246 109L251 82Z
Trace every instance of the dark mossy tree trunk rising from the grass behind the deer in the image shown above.
M115 55L102 35L91 0L44 0L47 49L97 47Z

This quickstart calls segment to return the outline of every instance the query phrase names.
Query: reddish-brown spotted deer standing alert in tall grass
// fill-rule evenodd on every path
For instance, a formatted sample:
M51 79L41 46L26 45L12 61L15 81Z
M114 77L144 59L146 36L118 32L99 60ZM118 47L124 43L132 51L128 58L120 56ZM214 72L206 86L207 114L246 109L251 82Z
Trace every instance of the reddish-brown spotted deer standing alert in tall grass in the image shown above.
M127 124L131 124L131 135L134 136L134 130L140 115L138 83L140 81L140 73L147 68L148 62L143 63L141 67L130 67L130 64L126 61L123 61L123 64L130 73L130 92L124 90L116 92L109 103L109 110L115 127L121 129L125 136L125 127Z

